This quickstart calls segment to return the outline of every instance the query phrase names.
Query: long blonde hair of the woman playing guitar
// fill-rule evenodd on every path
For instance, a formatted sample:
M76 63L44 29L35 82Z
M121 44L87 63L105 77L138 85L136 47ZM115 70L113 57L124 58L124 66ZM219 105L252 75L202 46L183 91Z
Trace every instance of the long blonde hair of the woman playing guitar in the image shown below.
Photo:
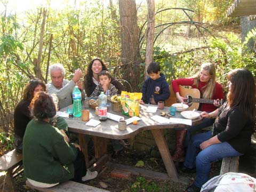
M209 72L211 78L209 82L202 88L202 98L203 99L212 99L213 93L215 92L215 78L216 78L216 70L214 64L210 62L203 63L201 66L201 70L206 70ZM198 87L200 81L200 71L197 75L193 76L194 83Z

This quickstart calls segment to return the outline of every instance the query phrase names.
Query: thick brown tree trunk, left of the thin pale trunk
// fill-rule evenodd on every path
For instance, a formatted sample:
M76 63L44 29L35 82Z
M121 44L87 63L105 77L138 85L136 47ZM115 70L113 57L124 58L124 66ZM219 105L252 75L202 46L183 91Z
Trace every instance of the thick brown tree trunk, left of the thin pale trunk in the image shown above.
M119 0L120 34L121 34L121 61L123 68L120 73L130 82L135 91L140 82L141 62L139 50L139 27L137 23L137 9L134 0Z

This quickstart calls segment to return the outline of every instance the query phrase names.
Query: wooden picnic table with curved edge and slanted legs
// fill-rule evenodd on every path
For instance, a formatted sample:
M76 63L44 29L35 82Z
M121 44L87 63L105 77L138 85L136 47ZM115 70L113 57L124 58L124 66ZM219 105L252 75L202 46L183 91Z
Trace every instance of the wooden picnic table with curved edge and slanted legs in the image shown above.
M106 138L108 139L127 139L131 138L139 132L151 130L153 133L154 140L158 147L158 150L162 156L166 171L171 180L178 181L178 173L175 169L174 163L172 161L172 157L167 147L167 143L162 134L162 129L174 129L178 127L188 127L185 124L178 123L169 123L169 124L159 124L150 117L156 114L160 114L161 111L169 111L169 107L165 107L162 110L157 109L156 113L148 113L146 112L147 107L149 105L140 105L140 118L137 125L133 125L132 123L127 125L127 129L125 131L118 130L118 122L113 121L111 119L107 119L106 121L102 121L96 127L85 125L86 122L81 120L81 117L73 117L73 118L65 118L68 124L69 132L78 133L79 145L82 148L82 151L85 155L86 165L89 165L89 160L87 159L87 142L85 139L85 135L92 135L94 142L94 152L95 159L101 158L104 154L107 154L107 145ZM71 108L68 106L66 108L61 109L61 111L67 111L67 108ZM84 106L83 106L84 108ZM87 108L90 110L90 119L99 119L97 115L95 115L95 109ZM108 110L109 113L113 113L116 115L123 116L125 119L130 117L122 115L120 112ZM183 118L180 115L180 112L176 111L174 118ZM192 125L201 123L202 118L198 117L197 119L192 120Z

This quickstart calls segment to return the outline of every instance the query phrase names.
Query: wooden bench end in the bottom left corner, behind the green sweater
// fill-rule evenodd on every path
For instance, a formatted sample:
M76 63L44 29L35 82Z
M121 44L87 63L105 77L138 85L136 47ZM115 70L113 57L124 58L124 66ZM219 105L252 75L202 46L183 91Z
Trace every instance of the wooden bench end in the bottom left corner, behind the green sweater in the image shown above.
M0 171L6 171L5 175L1 175L1 191L16 191L13 178L23 171L23 169L18 171L20 165L22 165L22 154L17 153L15 149L0 158Z

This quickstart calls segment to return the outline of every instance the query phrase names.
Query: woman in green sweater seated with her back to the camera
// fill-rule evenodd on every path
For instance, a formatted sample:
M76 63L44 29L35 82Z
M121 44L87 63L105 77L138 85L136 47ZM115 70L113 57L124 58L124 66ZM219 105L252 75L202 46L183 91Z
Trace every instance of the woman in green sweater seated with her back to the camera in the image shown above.
M28 123L23 137L23 166L31 185L52 187L70 179L82 182L97 177L96 171L86 170L80 146L69 145L50 124L56 114L51 96L38 92L29 107L35 118Z

